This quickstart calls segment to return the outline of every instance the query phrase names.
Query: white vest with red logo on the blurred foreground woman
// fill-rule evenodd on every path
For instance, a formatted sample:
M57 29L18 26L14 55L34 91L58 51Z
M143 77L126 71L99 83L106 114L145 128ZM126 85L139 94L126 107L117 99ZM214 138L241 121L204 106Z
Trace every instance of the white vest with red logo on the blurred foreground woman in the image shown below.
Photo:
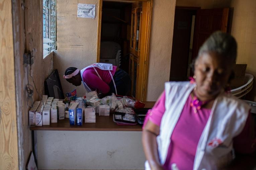
M166 110L157 136L161 164L166 161L171 134L194 86L189 82L165 83ZM228 165L232 160L233 138L243 130L249 110L249 105L231 94L222 93L215 99L197 144L193 170L215 170ZM150 169L147 161L145 169Z

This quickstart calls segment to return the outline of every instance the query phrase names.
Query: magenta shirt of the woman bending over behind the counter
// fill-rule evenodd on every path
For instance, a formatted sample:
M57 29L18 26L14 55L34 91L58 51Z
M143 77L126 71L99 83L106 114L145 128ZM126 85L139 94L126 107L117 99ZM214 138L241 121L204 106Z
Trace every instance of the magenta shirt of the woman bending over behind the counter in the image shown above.
M106 94L109 92L110 87L108 84L112 81L111 75L108 70L101 70L97 67L94 67L102 80L99 78L95 70L91 68L87 68L83 73L83 81L89 86L92 90L98 90L102 93ZM112 76L114 76L116 71L116 66L113 66L113 69L110 70Z

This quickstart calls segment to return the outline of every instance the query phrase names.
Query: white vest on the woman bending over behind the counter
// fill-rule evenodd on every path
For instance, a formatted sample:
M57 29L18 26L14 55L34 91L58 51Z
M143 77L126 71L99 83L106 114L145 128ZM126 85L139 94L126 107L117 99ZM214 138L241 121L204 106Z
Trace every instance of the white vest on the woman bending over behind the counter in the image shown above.
M102 80L102 78L100 77L99 73L97 72L97 70L95 69L95 67L101 69L101 70L108 70L109 71L109 74L111 76L111 79L113 81L113 84L114 84L114 87L115 87L115 94L117 95L117 91L116 91L116 86L115 86L115 82L114 82L114 79L113 79L113 75L111 74L110 70L113 70L113 65L112 64L107 64L107 63L94 63L92 65L89 65L85 68L83 68L80 73L81 73L81 77L82 77L82 82L83 82L83 85L84 85L84 88L85 90L87 91L87 93L91 92L91 88L85 83L85 81L83 80L83 73L84 71L87 69L87 68L93 68L94 71L97 73L98 77Z

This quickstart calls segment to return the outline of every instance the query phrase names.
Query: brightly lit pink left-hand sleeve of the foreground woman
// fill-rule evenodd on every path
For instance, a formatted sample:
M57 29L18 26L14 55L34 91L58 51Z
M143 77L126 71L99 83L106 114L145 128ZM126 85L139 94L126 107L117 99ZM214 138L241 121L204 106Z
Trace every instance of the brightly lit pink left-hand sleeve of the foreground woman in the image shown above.
M154 107L148 111L144 121L143 128L147 124L148 120L153 122L155 125L160 126L164 112L165 112L165 91L158 98Z

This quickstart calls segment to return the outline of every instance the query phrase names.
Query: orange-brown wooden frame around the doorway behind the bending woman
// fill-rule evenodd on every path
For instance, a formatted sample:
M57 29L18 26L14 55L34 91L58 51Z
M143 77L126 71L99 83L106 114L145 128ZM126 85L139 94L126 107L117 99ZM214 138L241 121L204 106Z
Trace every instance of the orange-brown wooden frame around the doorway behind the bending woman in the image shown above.
M129 0L134 1L134 0ZM150 48L150 35L151 35L151 23L152 23L152 12L153 12L153 0L135 0L135 1L142 1L148 2L146 5L146 28L145 33L141 36L145 38L145 46L144 50L141 51L142 58L140 59L140 73L141 76L138 77L140 81L142 81L142 86L138 88L138 99L142 101L146 101L147 97L147 86L148 86L148 67L149 67L149 48ZM115 0L113 0L115 2ZM97 42L97 62L100 61L100 38L101 38L101 19L102 19L102 4L103 0L99 1L99 20L98 20L98 42ZM142 9L143 10L143 9Z

